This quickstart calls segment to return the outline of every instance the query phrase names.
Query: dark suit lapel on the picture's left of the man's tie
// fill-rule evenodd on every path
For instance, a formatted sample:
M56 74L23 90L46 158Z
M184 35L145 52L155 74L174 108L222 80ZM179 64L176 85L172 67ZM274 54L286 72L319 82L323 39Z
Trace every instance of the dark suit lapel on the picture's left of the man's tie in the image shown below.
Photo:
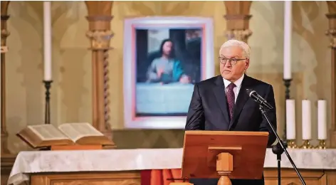
M221 108L221 113L223 113L225 117L225 121L229 122L229 112L228 107L226 105L226 95L225 95L225 86L224 81L221 75L216 80L216 87L214 88L214 94L216 97L216 100L219 104L219 107Z

